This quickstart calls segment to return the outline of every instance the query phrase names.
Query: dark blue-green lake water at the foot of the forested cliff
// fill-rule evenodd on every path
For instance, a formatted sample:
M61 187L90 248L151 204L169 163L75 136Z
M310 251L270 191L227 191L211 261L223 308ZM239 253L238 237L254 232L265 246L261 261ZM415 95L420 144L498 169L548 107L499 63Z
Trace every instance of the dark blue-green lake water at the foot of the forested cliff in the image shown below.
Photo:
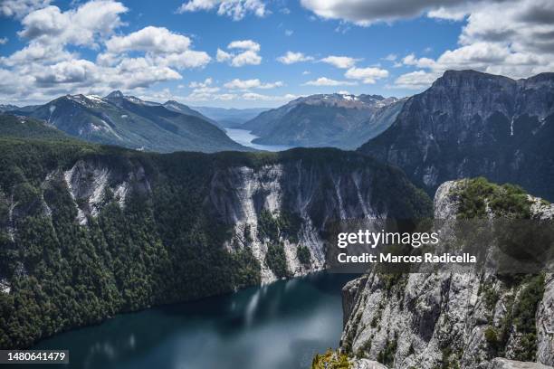
M33 349L67 349L70 364L33 368L294 369L339 345L340 289L353 275L315 273L72 330Z

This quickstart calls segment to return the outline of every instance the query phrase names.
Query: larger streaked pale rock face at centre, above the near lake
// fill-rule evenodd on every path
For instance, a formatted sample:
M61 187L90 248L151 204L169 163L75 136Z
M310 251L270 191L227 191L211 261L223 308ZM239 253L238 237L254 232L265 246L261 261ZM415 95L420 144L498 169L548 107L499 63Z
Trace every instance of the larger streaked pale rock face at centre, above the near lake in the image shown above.
M232 166L217 171L210 183L207 205L211 212L234 229L226 247L248 247L262 265L262 280L278 277L266 265L269 245L284 245L291 275L325 268L321 232L328 222L340 219L383 218L394 214L387 201L377 195L373 169L314 165L309 161L286 160L267 166ZM280 232L276 239L260 231L263 212L279 222L293 215L294 231ZM302 264L298 248L310 250L310 264Z

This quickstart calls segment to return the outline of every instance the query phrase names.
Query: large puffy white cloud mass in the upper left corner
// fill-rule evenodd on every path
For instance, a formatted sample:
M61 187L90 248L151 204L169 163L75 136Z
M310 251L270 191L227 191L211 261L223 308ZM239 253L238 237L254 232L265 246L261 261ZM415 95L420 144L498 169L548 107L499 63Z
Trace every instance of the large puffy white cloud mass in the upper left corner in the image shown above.
M211 60L206 52L191 50L188 37L163 27L114 35L125 12L119 2L91 0L67 11L45 4L25 14L19 35L27 43L0 57L0 78L10 76L0 82L0 99L37 101L75 90L139 91L181 80L180 70L202 68ZM81 48L100 52L87 60Z

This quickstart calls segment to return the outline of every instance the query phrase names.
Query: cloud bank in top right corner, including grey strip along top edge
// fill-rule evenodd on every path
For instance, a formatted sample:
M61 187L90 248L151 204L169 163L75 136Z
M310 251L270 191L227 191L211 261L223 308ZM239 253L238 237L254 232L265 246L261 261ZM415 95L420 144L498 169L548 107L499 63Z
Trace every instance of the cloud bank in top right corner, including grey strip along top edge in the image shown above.
M554 69L554 11L550 0L301 0L326 19L368 26L427 16L465 22L458 45L436 59L408 54L395 66L417 69L397 87L419 89L449 69L525 78ZM501 14L501 21L499 21Z

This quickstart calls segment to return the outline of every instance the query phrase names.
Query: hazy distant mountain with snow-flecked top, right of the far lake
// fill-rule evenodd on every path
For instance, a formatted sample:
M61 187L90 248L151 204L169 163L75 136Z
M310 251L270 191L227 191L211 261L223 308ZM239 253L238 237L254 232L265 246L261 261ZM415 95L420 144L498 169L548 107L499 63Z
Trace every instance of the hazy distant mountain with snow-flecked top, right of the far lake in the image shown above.
M265 145L354 149L387 129L404 99L318 94L292 100L244 123Z

